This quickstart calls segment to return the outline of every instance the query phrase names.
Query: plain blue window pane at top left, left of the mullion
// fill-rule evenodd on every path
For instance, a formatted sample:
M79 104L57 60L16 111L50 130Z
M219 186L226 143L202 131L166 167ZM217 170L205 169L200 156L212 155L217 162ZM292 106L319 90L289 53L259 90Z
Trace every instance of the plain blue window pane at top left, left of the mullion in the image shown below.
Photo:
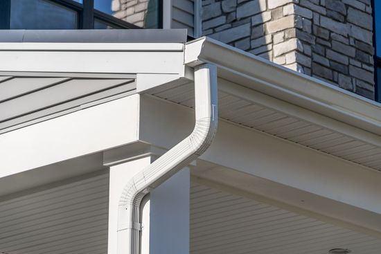
M10 29L76 29L78 13L47 0L12 0Z

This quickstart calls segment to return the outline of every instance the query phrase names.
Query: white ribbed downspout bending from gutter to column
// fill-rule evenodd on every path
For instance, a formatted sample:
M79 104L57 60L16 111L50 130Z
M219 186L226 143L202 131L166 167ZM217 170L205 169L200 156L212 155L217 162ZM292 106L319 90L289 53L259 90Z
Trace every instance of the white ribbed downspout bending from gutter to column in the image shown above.
M125 185L118 207L118 254L139 254L141 199L203 154L218 125L217 70L212 64L195 67L195 127L166 154Z

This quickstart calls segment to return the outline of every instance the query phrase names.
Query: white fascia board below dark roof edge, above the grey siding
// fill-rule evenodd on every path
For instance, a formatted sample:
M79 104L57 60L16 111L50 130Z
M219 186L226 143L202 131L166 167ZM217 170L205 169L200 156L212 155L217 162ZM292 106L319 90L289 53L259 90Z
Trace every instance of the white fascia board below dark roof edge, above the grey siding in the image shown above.
M181 43L0 43L0 71L184 75Z

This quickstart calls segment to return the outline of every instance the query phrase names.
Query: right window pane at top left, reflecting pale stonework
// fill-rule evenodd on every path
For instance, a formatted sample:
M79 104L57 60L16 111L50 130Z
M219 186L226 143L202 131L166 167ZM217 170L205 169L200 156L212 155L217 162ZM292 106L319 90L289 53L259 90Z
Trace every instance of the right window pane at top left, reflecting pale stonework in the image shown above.
M159 0L94 0L94 8L141 28L159 28Z

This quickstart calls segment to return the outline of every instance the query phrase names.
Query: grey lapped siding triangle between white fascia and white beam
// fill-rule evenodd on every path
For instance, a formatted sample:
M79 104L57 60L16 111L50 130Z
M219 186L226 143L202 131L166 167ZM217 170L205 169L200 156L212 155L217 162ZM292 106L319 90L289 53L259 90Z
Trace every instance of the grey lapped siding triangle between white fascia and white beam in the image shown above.
M135 75L0 73L0 134L134 93Z

